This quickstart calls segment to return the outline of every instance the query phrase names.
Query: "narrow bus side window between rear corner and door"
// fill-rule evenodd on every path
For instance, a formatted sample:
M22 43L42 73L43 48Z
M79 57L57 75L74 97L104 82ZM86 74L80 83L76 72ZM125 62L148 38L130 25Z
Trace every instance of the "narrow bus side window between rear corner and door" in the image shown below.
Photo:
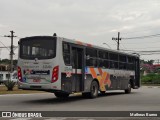
M66 42L63 42L63 59L66 65L71 64L70 45Z

